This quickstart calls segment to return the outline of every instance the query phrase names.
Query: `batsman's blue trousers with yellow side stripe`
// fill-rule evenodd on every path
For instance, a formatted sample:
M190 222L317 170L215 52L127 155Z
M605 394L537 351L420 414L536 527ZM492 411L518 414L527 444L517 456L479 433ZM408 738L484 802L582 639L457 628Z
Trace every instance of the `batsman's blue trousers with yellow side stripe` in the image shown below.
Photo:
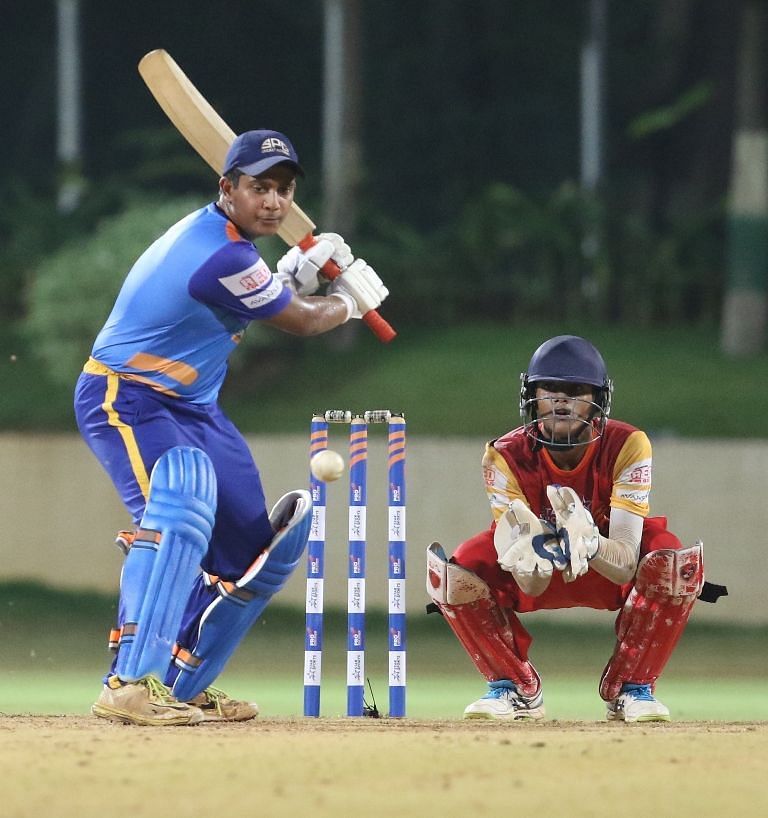
M83 373L75 417L134 523L141 520L155 461L174 446L197 446L216 471L216 521L201 568L238 580L273 536L259 470L245 439L217 404L195 405L117 375ZM179 588L188 597L179 645L193 650L200 617L213 596L200 579ZM122 606L118 626L123 624ZM170 658L170 657L169 657ZM169 674L172 681L175 673Z

